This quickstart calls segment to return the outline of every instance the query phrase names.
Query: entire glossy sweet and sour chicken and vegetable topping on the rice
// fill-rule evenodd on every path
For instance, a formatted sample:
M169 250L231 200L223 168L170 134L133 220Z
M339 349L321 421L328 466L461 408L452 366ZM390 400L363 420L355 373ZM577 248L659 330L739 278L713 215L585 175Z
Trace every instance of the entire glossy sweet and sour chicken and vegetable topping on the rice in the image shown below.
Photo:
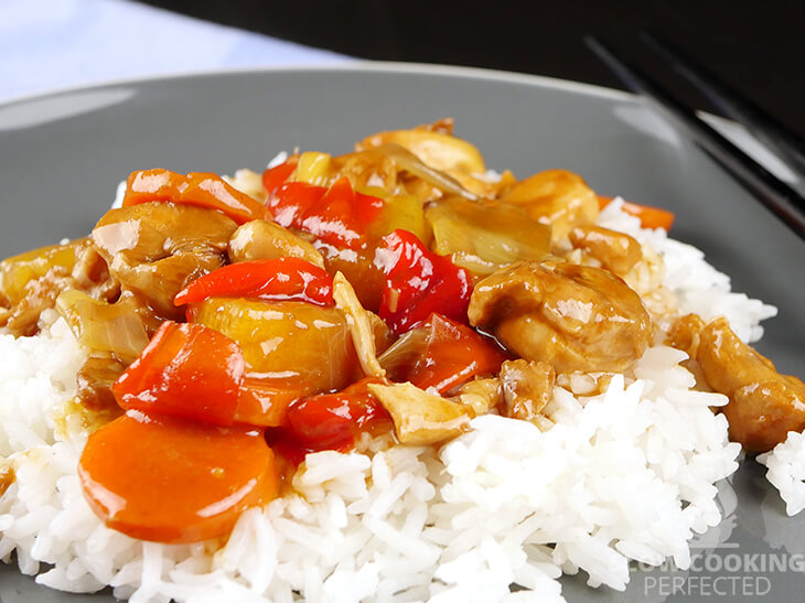
M550 429L557 384L629 373L661 326L627 282L662 259L595 226L607 200L578 175L490 172L452 131L234 180L133 172L90 237L0 262L0 326L30 335L55 309L87 352L76 403L106 424L79 476L109 526L223 536L307 452L439 445L489 412ZM730 397L749 450L805 427L802 381L726 321L679 321L670 340Z

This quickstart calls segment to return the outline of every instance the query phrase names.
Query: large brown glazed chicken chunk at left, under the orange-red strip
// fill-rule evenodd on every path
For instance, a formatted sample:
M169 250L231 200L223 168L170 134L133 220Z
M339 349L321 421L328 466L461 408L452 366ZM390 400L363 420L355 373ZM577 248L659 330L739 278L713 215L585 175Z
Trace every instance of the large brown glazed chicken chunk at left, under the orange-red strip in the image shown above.
M237 225L214 209L143 203L111 209L93 240L125 290L162 319L180 320L173 298L187 283L221 268Z

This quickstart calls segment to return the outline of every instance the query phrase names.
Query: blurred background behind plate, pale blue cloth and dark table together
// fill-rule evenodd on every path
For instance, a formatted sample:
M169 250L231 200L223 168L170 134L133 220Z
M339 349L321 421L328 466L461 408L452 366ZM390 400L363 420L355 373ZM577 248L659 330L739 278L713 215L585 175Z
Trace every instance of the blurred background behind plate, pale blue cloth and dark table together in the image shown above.
M803 0L0 0L0 99L109 78L351 57L621 87L584 46L592 33L712 109L640 45L646 28L805 134Z

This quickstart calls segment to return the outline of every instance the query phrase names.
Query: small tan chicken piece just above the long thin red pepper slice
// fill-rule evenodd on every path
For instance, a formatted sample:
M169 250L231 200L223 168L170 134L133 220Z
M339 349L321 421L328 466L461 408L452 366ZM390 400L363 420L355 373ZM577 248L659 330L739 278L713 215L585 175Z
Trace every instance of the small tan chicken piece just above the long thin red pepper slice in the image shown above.
M315 247L276 222L255 219L239 226L229 239L229 261L272 260L293 257L324 268Z

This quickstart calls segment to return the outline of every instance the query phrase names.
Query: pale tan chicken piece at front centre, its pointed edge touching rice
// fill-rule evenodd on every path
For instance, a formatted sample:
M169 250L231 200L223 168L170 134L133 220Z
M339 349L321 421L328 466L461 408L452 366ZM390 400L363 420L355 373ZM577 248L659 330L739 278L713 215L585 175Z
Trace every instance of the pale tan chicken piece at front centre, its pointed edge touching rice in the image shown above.
M401 444L437 444L460 435L470 427L470 407L411 384L368 384L366 387L391 416L394 433Z

